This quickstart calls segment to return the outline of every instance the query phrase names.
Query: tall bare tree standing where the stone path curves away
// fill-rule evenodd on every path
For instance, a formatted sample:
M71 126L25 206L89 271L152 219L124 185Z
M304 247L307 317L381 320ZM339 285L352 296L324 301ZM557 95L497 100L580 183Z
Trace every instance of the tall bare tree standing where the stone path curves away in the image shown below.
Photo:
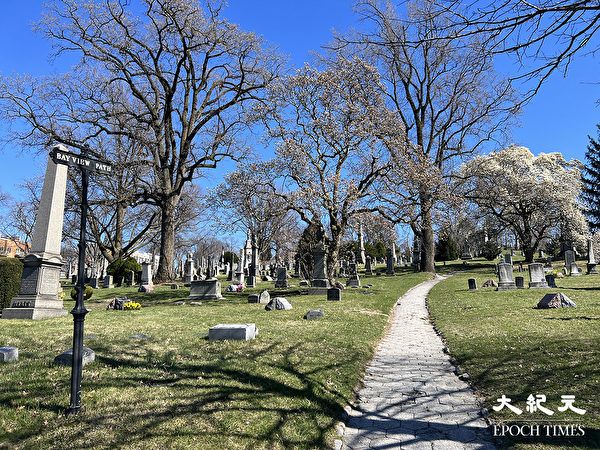
M369 29L338 36L337 47L377 65L410 148L388 144L394 165L378 184L378 209L412 227L422 243L421 270L434 272L433 217L447 180L484 142L504 138L516 98L495 75L485 42L457 37L432 2L409 4L407 19L379 0L359 1L357 11Z

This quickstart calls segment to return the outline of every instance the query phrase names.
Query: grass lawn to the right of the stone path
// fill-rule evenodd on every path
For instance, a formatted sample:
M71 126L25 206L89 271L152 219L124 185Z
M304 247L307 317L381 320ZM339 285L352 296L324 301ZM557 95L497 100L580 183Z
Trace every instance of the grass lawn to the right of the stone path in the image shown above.
M579 265L585 271L585 264ZM429 308L451 354L485 397L492 422L585 428L584 437L506 439L504 445L516 449L600 448L600 275L557 279L558 289L496 292L495 288L481 288L485 280L497 280L492 266L479 264L466 270L469 272L432 290ZM527 286L529 275L515 271L518 275L525 277ZM477 279L477 291L468 290L468 278ZM577 307L535 309L549 292L565 293ZM508 408L492 409L502 394L523 411L520 416ZM530 394L545 395L542 406L555 414L528 412ZM575 395L574 406L587 410L584 415L557 411L563 405L561 395L568 394Z

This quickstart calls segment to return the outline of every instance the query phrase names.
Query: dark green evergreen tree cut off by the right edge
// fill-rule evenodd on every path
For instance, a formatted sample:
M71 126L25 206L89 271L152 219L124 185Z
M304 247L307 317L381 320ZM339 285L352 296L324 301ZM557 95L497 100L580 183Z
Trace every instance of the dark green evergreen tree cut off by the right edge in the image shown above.
M600 137L600 124L598 136ZM600 229L600 139L594 140L588 136L590 144L585 153L586 164L583 168L583 200L586 203L585 215L590 229Z

